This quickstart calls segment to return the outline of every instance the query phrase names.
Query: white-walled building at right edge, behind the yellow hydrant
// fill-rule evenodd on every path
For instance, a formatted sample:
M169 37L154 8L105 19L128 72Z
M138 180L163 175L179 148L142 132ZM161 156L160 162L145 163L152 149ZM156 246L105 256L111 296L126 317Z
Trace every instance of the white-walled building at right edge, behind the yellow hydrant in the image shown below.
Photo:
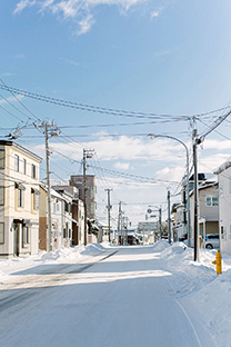
M221 251L231 255L231 158L215 171L219 181L219 234Z

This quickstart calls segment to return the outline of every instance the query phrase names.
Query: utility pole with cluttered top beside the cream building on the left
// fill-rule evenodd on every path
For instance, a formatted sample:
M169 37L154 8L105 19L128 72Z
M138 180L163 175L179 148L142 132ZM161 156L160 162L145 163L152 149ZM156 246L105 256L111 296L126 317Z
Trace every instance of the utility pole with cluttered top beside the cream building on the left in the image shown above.
M58 127L54 123L54 120L52 120L52 123L50 121L42 121L40 126L37 127L37 129L44 133L46 139L46 167L47 167L47 186L48 186L48 250L52 250L52 240L51 240L51 187L50 187L50 150L49 150L49 137L58 137L59 130Z

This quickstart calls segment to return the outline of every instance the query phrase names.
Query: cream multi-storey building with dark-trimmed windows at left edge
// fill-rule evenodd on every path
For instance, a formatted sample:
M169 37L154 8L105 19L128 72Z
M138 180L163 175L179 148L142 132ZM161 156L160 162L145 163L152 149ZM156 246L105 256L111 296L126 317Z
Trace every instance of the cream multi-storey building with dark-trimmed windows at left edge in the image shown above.
M41 161L27 148L0 140L1 257L38 254Z

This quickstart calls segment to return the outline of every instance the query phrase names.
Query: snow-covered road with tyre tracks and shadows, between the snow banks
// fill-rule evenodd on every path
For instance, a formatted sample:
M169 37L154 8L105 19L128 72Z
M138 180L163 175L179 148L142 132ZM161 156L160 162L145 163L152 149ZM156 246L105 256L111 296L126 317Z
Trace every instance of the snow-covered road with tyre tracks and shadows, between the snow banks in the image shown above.
M11 274L0 291L1 346L214 346L164 264L153 247L114 247Z

